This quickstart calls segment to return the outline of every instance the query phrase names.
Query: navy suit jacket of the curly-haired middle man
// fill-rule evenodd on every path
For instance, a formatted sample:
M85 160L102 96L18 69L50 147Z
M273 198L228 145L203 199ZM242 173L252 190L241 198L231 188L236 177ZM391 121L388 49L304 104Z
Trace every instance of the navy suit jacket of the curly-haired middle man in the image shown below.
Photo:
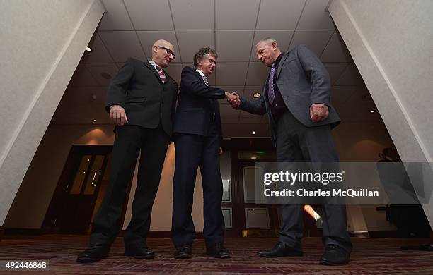
M206 86L202 75L194 68L182 70L173 133L187 133L207 136L209 126L217 123L219 138L222 140L219 102L224 90Z

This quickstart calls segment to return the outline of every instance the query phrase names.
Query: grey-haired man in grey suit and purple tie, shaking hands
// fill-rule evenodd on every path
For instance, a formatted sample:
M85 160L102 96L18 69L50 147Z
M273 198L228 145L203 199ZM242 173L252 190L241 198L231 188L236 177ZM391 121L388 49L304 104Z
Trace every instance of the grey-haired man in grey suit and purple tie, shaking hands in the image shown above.
M263 97L255 102L233 100L232 106L253 114L267 113L278 161L337 162L330 130L340 123L340 118L330 103L330 77L318 56L304 45L282 53L272 38L258 42L256 54L265 66L271 67ZM347 264L352 243L345 205L324 202L323 212L325 252L320 263ZM282 205L279 243L258 255L302 255L302 214L301 205Z

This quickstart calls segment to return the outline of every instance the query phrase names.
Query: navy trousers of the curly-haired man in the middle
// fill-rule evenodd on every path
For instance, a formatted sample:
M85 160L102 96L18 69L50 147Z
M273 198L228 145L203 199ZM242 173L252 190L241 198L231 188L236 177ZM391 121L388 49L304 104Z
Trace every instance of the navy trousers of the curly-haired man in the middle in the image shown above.
M219 143L217 128L213 126L208 136L183 133L175 135L176 164L171 226L175 247L184 243L192 244L195 238L191 210L195 177L199 166L204 197L204 239L209 245L224 241Z

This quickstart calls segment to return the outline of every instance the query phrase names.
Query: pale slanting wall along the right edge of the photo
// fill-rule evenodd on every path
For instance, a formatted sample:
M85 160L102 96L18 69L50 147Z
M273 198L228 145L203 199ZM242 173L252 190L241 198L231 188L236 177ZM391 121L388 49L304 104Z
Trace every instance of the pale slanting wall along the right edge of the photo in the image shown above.
M432 163L433 1L333 0L329 11L403 161Z

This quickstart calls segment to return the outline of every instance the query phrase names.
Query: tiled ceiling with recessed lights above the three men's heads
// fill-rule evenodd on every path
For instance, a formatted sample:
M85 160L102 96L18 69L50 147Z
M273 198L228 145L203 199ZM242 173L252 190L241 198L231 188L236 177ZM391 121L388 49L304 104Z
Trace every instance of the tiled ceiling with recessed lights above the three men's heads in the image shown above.
M306 44L321 59L333 83L331 100L343 121L380 121L349 51L326 11L328 0L103 0L106 8L52 119L53 124L111 124L105 113L110 79L128 57L151 57L156 39L175 47L166 69L178 83L183 66L192 66L200 47L217 50L211 85L251 100L260 92L268 68L255 59L255 44L277 39L287 51ZM267 136L267 117L221 103L225 137ZM74 110L74 111L72 111ZM96 120L94 122L93 120Z

